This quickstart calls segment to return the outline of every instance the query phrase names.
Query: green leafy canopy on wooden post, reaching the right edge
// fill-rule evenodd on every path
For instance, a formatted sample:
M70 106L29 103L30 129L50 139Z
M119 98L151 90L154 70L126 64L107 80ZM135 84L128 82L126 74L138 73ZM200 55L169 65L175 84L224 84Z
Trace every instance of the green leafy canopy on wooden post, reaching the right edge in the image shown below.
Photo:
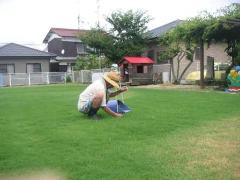
M175 28L171 36L172 41L168 44L170 52L178 52L177 61L184 55L184 50L179 48L179 42L185 44L189 50L188 55L192 56L195 47L200 48L200 86L204 88L204 43L211 44L214 41L227 42L226 52L232 57L232 65L240 62L240 4L232 4L219 11L217 16L204 12L200 16L190 18ZM170 39L171 39L170 38ZM175 44L175 46L173 46ZM174 48L172 49L172 47ZM188 58L192 59L192 58ZM186 69L186 68L185 68ZM178 78L175 76L177 82ZM181 76L180 76L181 77Z

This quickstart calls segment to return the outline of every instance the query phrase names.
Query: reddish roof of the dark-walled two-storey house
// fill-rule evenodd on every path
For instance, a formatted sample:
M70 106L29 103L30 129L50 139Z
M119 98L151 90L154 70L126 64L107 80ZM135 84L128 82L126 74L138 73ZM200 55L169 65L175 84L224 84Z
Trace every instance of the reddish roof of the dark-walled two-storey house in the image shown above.
M76 38L81 34L85 34L88 30L82 29L66 29L66 28L51 28L44 38L43 42L46 43L50 38L51 34L57 34L60 37L73 37Z

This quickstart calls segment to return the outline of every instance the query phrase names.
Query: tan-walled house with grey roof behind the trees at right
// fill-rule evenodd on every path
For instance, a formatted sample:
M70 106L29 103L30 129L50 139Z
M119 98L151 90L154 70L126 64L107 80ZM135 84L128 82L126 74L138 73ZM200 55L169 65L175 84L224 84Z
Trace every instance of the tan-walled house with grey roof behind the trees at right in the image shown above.
M164 33L167 31L175 28L176 26L180 25L183 21L182 20L176 20L173 22L170 22L168 24L165 24L163 26L160 26L158 28L150 30L149 37L150 42L148 44L148 49L144 52L145 56L148 56L152 58L155 62L157 62L159 55L161 52L164 51L164 47L159 46L158 38L161 37ZM207 44L204 45L204 67L206 71L206 78L207 79L214 79L214 67L218 64L228 64L231 61L231 57L227 55L225 52L225 48L227 47L227 44L225 43L212 43L210 46ZM195 49L194 53L194 59L187 71L184 73L182 79L186 80L186 77L188 77L188 74L199 71L200 70L200 61L199 61L199 49ZM184 68L188 65L189 60L187 60L186 57L183 57L183 59L180 61L179 64L179 71L177 69L177 56L173 59L173 67L170 65L169 60L158 62L159 66L154 67L154 73L155 72L168 72L169 73L169 80L173 80L173 69L174 74L181 74L184 71ZM199 77L200 78L200 77Z

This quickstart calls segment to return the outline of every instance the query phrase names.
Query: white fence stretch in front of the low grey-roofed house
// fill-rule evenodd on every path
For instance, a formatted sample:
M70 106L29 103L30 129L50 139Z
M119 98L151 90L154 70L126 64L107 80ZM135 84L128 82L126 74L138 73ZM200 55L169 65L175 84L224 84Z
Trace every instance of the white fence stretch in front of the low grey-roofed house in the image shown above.
M0 74L0 86L31 86L35 84L66 83L73 79L72 73L40 72L40 73L3 73Z

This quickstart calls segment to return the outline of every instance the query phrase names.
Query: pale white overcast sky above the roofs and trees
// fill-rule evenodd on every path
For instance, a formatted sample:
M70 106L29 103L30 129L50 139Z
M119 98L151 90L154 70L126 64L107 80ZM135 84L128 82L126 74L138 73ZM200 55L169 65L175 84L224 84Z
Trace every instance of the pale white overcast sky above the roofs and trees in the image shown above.
M90 29L99 21L107 28L105 18L117 10L146 12L151 30L231 3L240 0L0 0L0 45L13 42L43 49L52 27Z

